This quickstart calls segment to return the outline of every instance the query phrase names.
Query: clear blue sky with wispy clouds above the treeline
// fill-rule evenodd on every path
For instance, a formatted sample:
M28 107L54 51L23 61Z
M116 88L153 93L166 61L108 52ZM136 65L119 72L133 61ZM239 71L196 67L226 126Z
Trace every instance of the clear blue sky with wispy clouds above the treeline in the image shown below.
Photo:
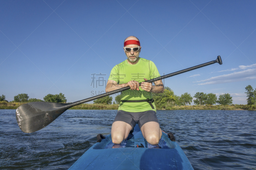
M175 94L229 93L246 104L256 88L256 1L0 1L0 95L43 99L65 94L68 102L91 97L91 86L126 59L127 36L140 39L140 57L161 75L215 60L167 78ZM95 76L98 79L100 76ZM96 80L95 79L95 80ZM96 82L95 82L96 83Z

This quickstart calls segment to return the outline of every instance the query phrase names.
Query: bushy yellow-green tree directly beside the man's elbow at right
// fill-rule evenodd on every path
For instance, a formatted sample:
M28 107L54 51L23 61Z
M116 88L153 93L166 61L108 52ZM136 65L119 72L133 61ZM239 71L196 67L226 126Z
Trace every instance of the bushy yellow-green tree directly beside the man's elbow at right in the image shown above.
M155 93L153 95L153 99L155 101L156 107L159 108L167 108L172 107L175 105L176 96L174 95L173 90L167 90L170 89L169 87L165 87L163 93Z

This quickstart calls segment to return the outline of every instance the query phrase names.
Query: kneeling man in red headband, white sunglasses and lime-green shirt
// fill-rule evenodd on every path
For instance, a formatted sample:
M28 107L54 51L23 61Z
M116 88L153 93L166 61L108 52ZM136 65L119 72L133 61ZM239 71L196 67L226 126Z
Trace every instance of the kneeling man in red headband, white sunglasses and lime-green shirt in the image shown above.
M131 90L121 93L121 103L111 129L114 144L120 144L126 139L136 123L148 143L158 144L162 136L151 93L164 92L164 85L162 80L155 81L155 85L144 82L160 77L160 74L152 61L139 57L140 50L139 39L134 36L127 37L124 40L127 59L117 64L108 78L106 92L131 87Z

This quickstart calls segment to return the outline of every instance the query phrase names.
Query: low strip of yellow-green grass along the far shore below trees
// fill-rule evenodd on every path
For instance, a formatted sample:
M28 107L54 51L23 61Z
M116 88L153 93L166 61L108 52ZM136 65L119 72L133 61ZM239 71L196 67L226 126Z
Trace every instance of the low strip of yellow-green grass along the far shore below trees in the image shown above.
M20 105L25 104L22 102L0 102L0 109L17 109ZM81 104L71 107L72 110L117 110L119 104ZM157 110L167 110L157 108ZM247 110L248 105L188 105L188 106L173 106L168 107L168 110Z

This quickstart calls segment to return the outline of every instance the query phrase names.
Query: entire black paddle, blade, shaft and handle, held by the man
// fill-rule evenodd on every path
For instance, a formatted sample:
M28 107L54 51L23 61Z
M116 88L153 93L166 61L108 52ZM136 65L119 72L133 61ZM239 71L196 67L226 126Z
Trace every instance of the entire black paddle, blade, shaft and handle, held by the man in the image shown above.
M216 60L200 64L188 69L176 71L171 74L167 74L158 78L153 78L147 80L146 82L153 83L154 81L162 80L164 78L172 77L187 71L195 70L210 64L219 63L222 64L220 56ZM140 83L141 84L141 83ZM45 126L53 122L57 117L59 117L63 112L68 110L70 107L86 103L88 101L96 100L105 96L109 96L115 93L122 92L124 90L129 90L130 86L117 89L111 92L103 93L97 96L90 97L88 99L79 100L73 103L52 103L52 102L30 102L19 106L16 110L16 119L20 129L25 133L32 133L37 130L43 129Z

